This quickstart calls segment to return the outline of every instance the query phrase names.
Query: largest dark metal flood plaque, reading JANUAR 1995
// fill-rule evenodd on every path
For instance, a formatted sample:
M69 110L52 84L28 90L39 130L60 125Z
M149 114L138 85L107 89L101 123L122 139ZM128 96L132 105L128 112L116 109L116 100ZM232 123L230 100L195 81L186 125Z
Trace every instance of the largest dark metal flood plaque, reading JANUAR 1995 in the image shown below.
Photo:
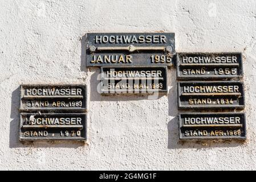
M87 34L86 66L172 66L174 33Z

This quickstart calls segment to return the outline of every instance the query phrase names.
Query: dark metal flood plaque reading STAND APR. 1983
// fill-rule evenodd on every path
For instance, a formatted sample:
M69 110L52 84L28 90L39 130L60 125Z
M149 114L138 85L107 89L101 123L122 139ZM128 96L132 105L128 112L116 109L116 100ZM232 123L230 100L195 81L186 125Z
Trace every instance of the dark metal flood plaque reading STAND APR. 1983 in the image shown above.
M21 85L21 111L86 111L85 85Z

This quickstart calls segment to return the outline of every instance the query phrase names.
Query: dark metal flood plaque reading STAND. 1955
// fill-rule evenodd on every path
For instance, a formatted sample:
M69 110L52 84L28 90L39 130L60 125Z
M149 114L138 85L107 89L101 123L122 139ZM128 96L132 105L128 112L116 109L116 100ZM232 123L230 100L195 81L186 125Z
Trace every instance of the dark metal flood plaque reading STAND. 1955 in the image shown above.
M177 53L177 78L242 77L242 53Z

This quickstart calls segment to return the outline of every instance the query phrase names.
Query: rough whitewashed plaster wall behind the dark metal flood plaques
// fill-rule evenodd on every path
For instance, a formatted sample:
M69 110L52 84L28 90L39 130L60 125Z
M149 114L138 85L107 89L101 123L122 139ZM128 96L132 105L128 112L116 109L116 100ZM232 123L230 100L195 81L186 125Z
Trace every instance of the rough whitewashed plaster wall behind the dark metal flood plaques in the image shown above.
M256 169L256 2L0 1L0 169ZM247 140L178 142L169 94L103 97L84 65L87 32L175 32L176 51L245 55ZM18 140L20 84L87 84L88 142Z

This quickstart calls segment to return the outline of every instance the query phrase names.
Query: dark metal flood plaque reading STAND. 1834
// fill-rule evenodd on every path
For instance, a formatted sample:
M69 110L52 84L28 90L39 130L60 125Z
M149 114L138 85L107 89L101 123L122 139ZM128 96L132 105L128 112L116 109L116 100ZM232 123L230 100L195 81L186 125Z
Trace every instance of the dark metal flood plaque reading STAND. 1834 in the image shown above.
M178 82L180 109L242 109L244 97L243 83L239 81Z

